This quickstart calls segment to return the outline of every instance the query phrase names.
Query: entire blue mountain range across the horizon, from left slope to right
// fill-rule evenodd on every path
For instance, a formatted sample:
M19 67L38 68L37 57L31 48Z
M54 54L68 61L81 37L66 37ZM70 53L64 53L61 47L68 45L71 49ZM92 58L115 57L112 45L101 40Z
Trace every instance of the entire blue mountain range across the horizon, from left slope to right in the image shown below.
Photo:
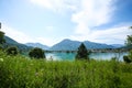
M18 43L16 41L10 38L9 36L4 36L4 38L6 38L8 45L15 45L21 50L26 50L26 48L31 48L31 47L40 47L40 48L47 50L47 51L76 51L81 43L79 41L72 41L72 40L66 38L66 40L63 40L62 42L53 45L52 47L50 47L50 46L43 45L41 43L21 44L21 43ZM82 43L86 45L86 47L88 50L118 48L118 47L123 46L120 44L108 45L108 44L101 44L101 43L94 43L94 42L89 42L89 41L85 41Z

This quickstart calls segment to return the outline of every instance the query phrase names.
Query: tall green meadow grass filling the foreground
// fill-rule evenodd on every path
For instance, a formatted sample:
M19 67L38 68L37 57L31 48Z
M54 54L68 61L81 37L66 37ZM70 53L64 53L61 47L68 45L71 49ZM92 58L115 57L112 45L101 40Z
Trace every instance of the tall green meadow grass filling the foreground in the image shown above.
M132 88L132 64L47 62L0 52L0 88Z

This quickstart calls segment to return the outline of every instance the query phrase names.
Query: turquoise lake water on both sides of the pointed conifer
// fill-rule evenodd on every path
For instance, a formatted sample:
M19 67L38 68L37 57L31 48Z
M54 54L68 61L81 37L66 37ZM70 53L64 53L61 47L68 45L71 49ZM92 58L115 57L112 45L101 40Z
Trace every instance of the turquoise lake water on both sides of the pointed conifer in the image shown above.
M53 61L74 61L76 53L45 53L46 59ZM123 53L91 53L90 58L94 59L111 59L112 57L118 57L123 61L123 56L128 55L127 52Z

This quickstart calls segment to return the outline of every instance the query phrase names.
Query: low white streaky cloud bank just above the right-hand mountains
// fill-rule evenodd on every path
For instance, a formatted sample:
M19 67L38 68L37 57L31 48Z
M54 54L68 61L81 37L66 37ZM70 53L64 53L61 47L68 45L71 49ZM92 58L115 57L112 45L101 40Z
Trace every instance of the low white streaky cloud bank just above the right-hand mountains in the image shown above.
M78 41L92 41L97 43L107 44L124 44L127 35L130 35L131 30L128 30L128 25L116 26L106 30L94 30L92 32L84 35L72 35L70 38Z

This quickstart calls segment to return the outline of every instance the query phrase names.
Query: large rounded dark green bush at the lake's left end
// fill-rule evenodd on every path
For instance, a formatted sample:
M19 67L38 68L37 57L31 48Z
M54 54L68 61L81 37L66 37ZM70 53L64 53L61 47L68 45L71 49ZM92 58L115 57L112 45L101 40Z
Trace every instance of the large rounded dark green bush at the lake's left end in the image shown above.
M35 47L29 53L30 57L34 58L45 58L44 51L42 48Z

